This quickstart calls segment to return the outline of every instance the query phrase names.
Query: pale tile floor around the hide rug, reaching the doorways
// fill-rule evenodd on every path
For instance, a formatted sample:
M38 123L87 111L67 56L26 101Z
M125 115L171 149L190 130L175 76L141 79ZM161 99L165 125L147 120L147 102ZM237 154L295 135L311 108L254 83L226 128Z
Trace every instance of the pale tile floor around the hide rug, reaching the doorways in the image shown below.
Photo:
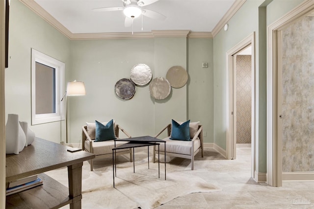
M251 178L251 148L236 148L236 156L236 160L225 160L213 149L205 149L204 158L198 153L194 161L195 175L222 191L192 193L156 209L314 209L314 182L284 182L282 187L256 183ZM129 161L128 156L117 157L121 163ZM145 158L146 149L135 151L136 161ZM160 159L164 160L163 155ZM187 159L167 157L166 161L167 173L191 169L191 161ZM111 163L110 158L94 160L94 169L104 166L110 169ZM303 204L300 200L304 200Z

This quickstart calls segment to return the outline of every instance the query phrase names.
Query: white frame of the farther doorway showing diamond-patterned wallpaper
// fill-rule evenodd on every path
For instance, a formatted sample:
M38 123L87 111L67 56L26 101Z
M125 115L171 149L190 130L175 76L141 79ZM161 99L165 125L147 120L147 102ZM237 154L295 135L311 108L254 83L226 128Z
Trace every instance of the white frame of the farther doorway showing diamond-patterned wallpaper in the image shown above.
M251 176L254 178L254 171L256 168L256 78L255 78L255 32L250 34L248 37L243 39L240 43L235 45L226 53L226 66L227 66L227 136L226 136L226 157L227 159L235 159L235 148L236 148L236 140L234 140L234 136L236 133L236 129L234 125L236 124L236 110L235 110L235 99L234 99L234 91L233 91L233 83L235 82L235 76L233 73L234 69L234 59L233 55L241 51L242 49L246 48L247 46L252 46L252 118L251 118L251 156L252 156L252 169L251 169Z

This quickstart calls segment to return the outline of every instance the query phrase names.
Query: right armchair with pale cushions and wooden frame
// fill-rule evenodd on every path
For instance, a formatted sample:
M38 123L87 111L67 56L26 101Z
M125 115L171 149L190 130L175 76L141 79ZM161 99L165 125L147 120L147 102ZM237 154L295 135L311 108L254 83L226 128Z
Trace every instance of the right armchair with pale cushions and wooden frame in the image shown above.
M200 125L200 122L184 122L187 125L187 129L189 130L189 136L185 136L185 139L175 139L173 136L175 133L172 133L172 126L175 124L174 120L172 123L165 126L155 137L157 138L163 131L167 129L167 136L165 139L166 143L166 156L174 156L179 158L191 159L191 170L194 169L194 156L201 151L202 158L203 154L203 126ZM189 122L189 124L187 123ZM179 126L179 125L180 126ZM181 130L183 122L178 122L176 131ZM186 132L185 135L188 133ZM180 137L177 137L180 138ZM164 143L160 143L159 145L159 153L164 155ZM154 146L153 150L153 162L155 163L156 153L158 152L158 147Z

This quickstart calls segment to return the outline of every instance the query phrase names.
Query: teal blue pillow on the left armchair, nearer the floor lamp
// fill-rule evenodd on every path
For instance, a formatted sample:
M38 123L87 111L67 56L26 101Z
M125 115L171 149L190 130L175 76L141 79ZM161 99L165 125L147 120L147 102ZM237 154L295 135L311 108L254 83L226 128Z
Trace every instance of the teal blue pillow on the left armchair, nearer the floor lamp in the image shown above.
M106 125L95 120L95 125L95 142L116 139L114 136L113 119L107 122Z

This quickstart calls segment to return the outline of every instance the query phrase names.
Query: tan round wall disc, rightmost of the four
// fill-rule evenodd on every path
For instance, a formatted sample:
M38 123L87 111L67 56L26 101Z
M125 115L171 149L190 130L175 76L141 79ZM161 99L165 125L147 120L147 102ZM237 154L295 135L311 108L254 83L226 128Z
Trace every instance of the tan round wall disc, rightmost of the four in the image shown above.
M168 70L166 78L173 88L181 88L187 82L187 72L181 66L173 66Z

